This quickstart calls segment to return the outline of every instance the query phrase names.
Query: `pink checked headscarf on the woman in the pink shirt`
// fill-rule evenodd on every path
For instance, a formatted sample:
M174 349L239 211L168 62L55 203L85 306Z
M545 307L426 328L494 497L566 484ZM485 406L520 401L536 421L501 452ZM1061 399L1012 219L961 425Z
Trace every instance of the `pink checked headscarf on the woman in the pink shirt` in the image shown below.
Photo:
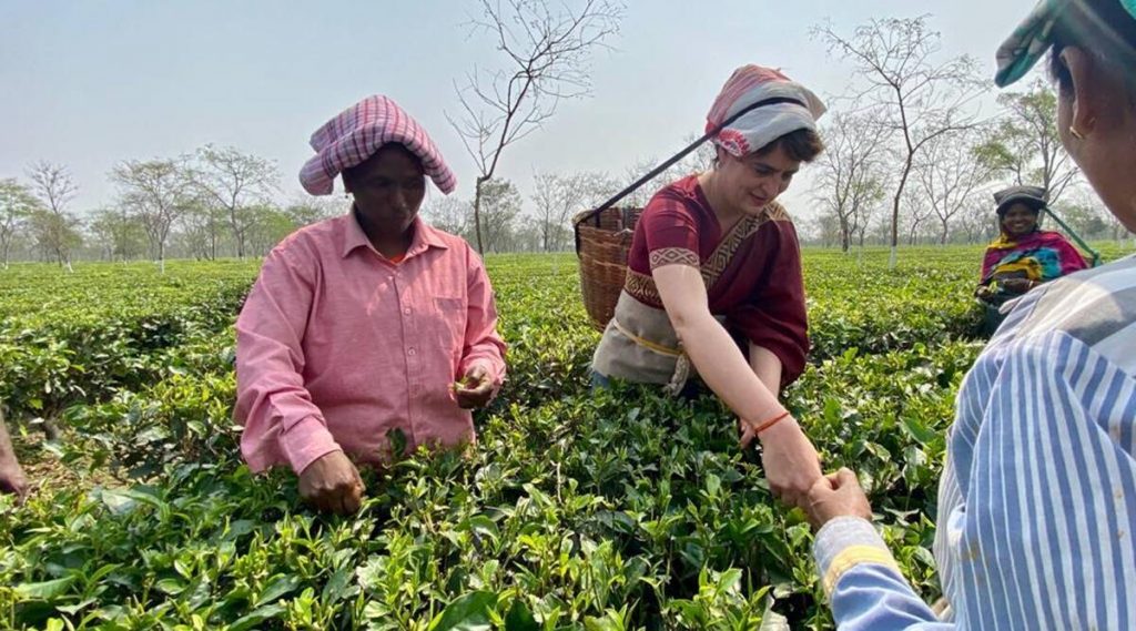
M300 184L312 195L329 195L335 176L387 143L401 143L417 155L443 193L458 185L426 129L386 96L367 96L316 129L310 141L316 155L300 169Z

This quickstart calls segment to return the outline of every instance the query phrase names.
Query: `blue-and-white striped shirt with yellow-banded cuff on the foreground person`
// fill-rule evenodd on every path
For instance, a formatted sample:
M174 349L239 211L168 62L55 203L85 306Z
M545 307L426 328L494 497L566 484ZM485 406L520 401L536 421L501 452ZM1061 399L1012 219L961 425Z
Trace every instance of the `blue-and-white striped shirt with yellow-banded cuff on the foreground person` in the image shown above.
M840 629L1136 629L1136 258L1013 308L959 392L938 515L951 621L869 522L817 533Z

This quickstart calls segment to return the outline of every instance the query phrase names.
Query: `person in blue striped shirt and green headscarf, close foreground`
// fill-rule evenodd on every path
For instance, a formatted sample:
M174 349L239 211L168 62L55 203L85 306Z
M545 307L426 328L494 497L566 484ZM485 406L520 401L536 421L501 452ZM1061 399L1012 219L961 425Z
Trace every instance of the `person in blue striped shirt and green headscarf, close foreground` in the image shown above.
M1042 2L999 50L999 85L1049 49L1062 143L1136 230L1136 0ZM938 496L945 616L854 473L804 507L840 629L1136 629L1136 258L1026 294L963 381Z

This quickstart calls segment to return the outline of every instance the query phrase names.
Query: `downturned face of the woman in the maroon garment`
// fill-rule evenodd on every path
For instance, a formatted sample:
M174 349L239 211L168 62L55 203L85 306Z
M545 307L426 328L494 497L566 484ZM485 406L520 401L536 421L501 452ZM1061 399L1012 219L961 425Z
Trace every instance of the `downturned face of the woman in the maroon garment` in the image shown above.
M735 210L753 214L784 193L800 168L801 162L786 155L780 145L765 155L742 158L719 150L718 188Z

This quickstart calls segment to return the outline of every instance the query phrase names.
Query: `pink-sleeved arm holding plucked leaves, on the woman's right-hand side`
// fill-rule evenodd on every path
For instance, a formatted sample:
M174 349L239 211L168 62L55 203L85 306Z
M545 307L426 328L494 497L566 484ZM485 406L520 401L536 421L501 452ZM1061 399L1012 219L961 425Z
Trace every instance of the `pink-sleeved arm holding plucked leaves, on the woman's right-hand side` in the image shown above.
M459 368L465 384L456 392L462 407L488 404L504 381L506 344L496 331L496 304L485 267L470 250L466 316L466 339Z

